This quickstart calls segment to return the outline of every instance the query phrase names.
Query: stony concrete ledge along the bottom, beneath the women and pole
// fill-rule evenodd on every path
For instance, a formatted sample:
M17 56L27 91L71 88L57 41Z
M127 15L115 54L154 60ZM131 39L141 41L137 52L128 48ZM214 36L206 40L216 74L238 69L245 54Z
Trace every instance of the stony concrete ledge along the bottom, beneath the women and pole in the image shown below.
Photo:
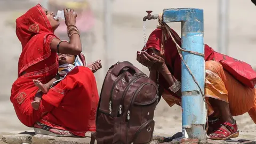
M164 136L162 136L164 135ZM255 132L241 132L238 138L230 139L226 141L216 141L216 140L197 140L197 139L181 139L180 133L173 135L173 137L169 137L166 139L166 134L154 133L153 141L150 144L158 144L158 143L247 143L247 144L256 144L256 133ZM171 140L171 142L166 142L166 140ZM63 137L53 137L50 135L42 135L35 134L34 131L16 131L16 132L0 132L0 144L89 144L91 140L91 132L87 132L85 138L80 137L71 137L71 138L63 138Z

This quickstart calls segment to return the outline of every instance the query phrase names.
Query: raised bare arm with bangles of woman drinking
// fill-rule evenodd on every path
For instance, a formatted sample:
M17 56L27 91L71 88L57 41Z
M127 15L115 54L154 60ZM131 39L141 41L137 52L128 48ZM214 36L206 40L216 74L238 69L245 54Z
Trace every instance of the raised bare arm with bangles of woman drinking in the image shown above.
M82 52L82 44L79 30L75 26L77 14L72 9L64 9L64 15L69 42L54 38L50 44L51 50L62 54L80 54Z

